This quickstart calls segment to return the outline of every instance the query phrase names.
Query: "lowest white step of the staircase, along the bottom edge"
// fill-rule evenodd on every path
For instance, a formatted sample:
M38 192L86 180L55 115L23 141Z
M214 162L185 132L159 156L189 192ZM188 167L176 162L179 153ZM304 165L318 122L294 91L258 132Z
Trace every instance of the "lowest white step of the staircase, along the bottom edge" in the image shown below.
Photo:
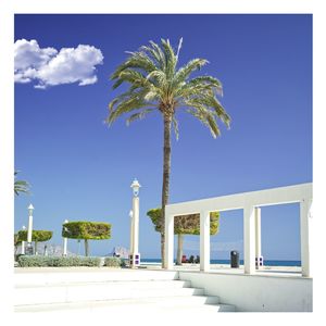
M105 313L130 313L146 315L149 310L153 312L177 312L178 314L234 312L235 306L217 304L216 297L168 297L168 298L142 298L103 301L66 302L52 304L32 304L15 306L15 312L59 312L59 311L105 311Z

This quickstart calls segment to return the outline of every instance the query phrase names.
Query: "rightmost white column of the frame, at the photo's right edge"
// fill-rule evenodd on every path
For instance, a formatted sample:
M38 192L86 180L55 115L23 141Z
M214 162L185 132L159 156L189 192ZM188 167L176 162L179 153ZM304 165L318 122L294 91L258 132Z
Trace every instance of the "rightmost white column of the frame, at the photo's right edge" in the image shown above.
M310 226L312 216L310 215L312 201L304 199L300 202L300 238L301 238L301 267L302 276L310 277Z

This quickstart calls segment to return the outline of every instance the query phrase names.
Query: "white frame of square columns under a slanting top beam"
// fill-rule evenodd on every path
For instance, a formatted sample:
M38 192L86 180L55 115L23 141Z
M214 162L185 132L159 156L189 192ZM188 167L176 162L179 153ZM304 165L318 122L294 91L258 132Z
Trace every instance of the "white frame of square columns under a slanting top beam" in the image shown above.
M256 239L260 230L255 229L255 208L264 205L300 203L300 237L302 276L310 274L309 238L312 203L312 184L228 195L210 199L195 200L165 206L165 268L173 268L174 216L200 213L200 269L210 271L210 212L243 210L243 252L244 273L255 272Z

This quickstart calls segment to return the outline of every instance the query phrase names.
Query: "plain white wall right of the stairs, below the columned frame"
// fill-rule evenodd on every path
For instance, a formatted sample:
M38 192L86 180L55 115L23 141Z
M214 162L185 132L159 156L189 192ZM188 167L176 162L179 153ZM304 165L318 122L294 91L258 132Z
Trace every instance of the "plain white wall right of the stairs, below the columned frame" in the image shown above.
M237 312L312 312L312 278L271 275L233 275L179 271L179 279L203 288L206 296L234 304Z

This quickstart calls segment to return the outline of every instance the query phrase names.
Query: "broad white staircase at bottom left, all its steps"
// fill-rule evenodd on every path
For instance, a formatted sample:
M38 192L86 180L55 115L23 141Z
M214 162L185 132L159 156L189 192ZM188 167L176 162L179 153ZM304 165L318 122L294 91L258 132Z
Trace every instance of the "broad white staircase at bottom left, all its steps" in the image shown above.
M177 272L66 269L15 273L15 312L134 311L210 313L234 312L218 297L205 296Z

